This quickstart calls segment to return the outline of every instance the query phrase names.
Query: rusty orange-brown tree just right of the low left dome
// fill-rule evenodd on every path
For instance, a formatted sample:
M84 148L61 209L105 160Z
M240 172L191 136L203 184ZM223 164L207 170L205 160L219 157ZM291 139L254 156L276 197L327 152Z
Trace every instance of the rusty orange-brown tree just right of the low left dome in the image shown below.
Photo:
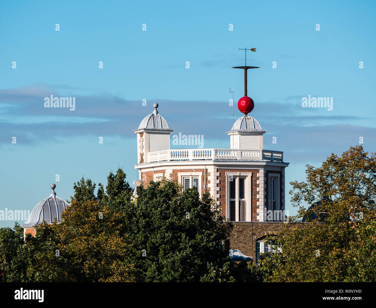
M61 223L37 226L35 238L26 242L33 251L32 281L133 281L123 216L97 200L73 200Z

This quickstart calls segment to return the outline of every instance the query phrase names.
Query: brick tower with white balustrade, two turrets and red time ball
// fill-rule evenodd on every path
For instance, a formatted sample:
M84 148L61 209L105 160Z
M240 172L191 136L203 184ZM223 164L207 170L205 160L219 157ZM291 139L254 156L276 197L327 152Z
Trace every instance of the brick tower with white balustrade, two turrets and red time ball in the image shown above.
M255 50L251 50L255 51ZM247 70L244 69L244 96L238 101L241 116L227 131L228 149L170 149L171 130L155 110L146 116L134 132L137 134L137 164L141 185L164 176L176 180L183 189L196 188L200 197L206 192L220 206L221 215L232 221L232 249L253 256L268 251L265 236L275 235L285 220L285 168L283 152L266 150L267 132L248 114L254 102L247 96ZM197 137L197 136L196 136ZM194 143L188 143L194 144Z

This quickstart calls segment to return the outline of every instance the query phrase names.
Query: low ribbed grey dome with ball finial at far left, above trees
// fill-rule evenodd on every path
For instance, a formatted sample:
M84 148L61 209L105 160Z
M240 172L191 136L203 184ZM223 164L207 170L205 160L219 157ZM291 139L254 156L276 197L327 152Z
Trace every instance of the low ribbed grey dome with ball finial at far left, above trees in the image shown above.
M67 209L69 204L63 199L56 197L55 187L55 184L51 184L52 192L50 193L50 197L45 198L34 207L30 213L29 220L26 224L22 225L23 227L41 224L43 220L51 224L55 221L55 218L58 219L58 222L61 222L61 213Z

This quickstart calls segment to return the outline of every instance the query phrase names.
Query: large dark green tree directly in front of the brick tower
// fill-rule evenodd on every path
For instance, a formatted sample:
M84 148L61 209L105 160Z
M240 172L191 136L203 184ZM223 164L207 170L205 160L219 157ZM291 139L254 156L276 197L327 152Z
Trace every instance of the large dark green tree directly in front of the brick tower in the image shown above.
M229 281L229 234L209 194L173 181L137 188L138 198L125 209L124 225L132 239L132 263L138 281Z

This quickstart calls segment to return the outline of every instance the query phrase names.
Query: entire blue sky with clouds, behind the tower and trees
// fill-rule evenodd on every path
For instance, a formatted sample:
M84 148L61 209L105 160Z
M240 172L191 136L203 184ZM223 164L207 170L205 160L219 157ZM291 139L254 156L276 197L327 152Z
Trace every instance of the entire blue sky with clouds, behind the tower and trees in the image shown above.
M284 151L290 162L286 183L303 180L305 164L318 166L332 152L359 144L359 137L374 152L375 6L373 1L2 3L0 210L32 210L48 197L51 183L67 199L82 175L105 184L118 166L132 183L137 177L132 130L154 102L173 134L203 134L204 148L229 148L229 88L235 88L235 102L243 96L243 72L229 66L244 65L238 50L244 47L257 48L247 53L247 64L262 67L249 71L248 95L255 102L250 115L268 131L264 147ZM76 97L76 110L44 108L50 95ZM302 108L308 95L333 97L333 110ZM241 113L234 109L237 119ZM286 204L296 212L288 195ZM13 225L0 221L0 227Z

